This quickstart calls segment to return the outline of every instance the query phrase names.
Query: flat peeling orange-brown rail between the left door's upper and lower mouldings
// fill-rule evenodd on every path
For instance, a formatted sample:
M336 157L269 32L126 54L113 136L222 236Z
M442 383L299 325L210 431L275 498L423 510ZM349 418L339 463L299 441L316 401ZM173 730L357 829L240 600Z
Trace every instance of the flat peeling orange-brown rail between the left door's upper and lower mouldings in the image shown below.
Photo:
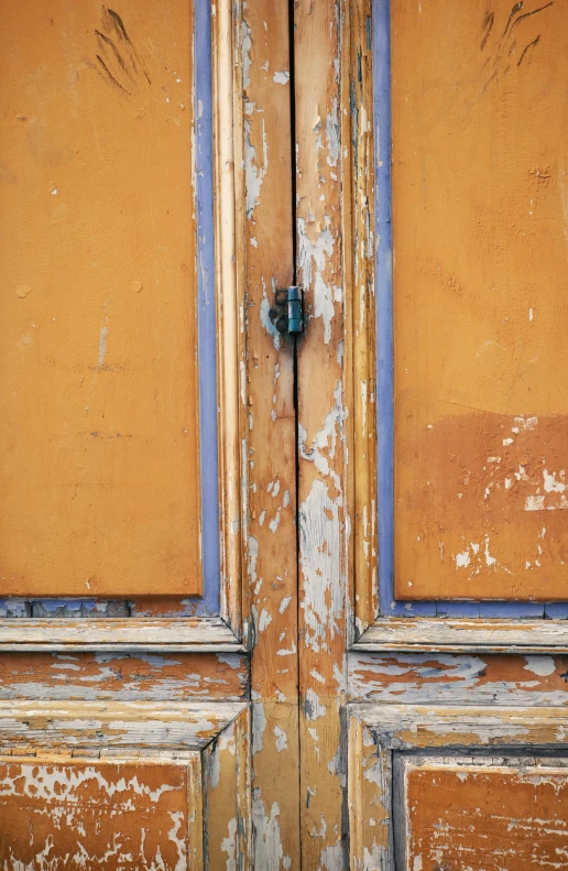
M97 701L243 701L242 653L3 653L0 698Z

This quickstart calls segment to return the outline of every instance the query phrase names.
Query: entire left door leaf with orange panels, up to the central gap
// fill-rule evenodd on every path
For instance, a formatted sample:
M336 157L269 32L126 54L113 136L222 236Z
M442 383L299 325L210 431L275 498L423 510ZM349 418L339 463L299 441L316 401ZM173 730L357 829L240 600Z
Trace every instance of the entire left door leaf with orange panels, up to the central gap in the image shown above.
M296 868L287 7L2 12L0 864Z

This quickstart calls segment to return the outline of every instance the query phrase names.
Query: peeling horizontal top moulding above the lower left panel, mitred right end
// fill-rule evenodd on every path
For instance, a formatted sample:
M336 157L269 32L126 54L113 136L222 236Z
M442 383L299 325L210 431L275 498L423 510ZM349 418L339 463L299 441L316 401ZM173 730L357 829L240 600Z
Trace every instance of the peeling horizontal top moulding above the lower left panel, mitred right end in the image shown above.
M0 745L15 751L78 748L199 750L247 707L242 703L0 700Z

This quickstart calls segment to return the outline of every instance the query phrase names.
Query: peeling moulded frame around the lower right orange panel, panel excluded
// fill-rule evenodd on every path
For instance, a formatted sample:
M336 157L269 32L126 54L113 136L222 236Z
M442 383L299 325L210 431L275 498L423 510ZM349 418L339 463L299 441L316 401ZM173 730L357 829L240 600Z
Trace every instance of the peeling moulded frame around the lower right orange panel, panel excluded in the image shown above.
M349 706L350 867L395 871L393 755L567 754L568 711L527 707Z

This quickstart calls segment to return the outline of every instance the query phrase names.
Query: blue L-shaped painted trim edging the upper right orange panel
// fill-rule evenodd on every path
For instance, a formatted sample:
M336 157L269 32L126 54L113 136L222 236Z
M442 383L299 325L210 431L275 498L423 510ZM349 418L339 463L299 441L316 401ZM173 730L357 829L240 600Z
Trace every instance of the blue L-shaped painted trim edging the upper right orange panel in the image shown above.
M375 177L376 468L379 603L381 614L400 617L567 618L568 603L403 602L394 599L394 395L391 188L390 0L373 0L373 111Z

